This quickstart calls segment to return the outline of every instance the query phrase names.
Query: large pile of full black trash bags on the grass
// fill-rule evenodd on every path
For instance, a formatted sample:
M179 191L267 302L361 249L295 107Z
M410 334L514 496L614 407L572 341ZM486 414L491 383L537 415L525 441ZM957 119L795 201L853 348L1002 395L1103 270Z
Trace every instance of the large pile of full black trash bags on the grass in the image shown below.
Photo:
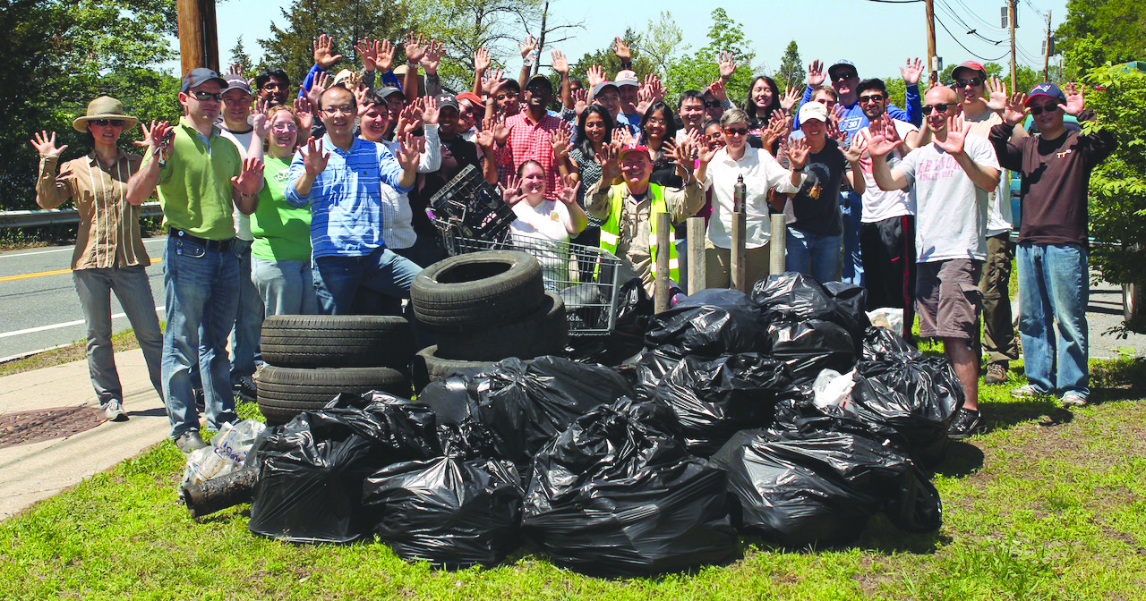
M377 540L441 568L532 541L599 576L735 560L738 535L846 545L884 514L929 532L963 389L944 359L873 327L863 291L778 274L658 315L630 291L615 365L509 358L414 401L342 394L254 443L250 529ZM642 324L635 329L635 324Z

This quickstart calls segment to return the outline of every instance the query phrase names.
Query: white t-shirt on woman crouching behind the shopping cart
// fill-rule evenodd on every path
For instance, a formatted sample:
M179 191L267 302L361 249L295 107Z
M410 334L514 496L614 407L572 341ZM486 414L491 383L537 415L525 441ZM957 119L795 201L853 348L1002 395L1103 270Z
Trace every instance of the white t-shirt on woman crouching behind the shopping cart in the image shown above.
M529 254L537 258L547 283L568 282L572 218L565 203L544 199L537 206L531 206L521 200L513 205L513 214L517 219L509 227L513 243L540 250Z

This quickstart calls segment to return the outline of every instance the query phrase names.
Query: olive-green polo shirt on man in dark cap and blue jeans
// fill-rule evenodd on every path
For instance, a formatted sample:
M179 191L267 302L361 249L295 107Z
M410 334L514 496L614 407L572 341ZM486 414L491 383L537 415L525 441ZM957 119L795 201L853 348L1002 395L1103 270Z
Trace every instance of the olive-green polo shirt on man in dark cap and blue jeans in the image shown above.
M230 179L243 169L238 149L219 135L218 128L212 128L210 140L203 137L186 117L179 119L174 131L171 157L159 175L164 221L209 240L234 238ZM149 150L143 165L150 160Z

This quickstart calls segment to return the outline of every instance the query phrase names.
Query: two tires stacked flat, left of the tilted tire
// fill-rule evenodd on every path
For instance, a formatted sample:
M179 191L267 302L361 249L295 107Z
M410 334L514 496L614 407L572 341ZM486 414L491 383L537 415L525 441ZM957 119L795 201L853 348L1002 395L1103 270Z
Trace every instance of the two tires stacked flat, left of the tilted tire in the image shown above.
M338 393L382 390L408 398L414 337L403 317L274 315L262 322L257 375L267 424L321 409Z

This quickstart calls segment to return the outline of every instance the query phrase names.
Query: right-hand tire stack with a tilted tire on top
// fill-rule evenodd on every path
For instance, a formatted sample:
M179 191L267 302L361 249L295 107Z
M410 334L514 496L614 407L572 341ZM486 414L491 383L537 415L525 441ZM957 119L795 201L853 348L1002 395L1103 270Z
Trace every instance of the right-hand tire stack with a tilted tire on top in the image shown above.
M414 357L414 385L507 357L529 359L565 349L560 296L545 292L541 264L516 251L482 251L439 261L410 285L414 316L438 345Z

